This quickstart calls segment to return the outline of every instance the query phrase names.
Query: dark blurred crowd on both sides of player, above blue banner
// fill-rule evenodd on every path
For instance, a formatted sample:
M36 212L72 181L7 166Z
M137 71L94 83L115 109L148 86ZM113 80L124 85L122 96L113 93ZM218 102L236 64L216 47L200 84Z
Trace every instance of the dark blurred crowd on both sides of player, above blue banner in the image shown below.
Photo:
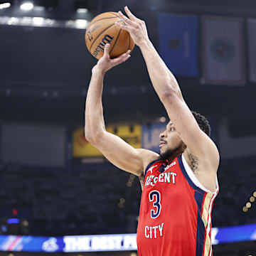
M221 161L213 227L256 223L254 203L242 211L256 191L254 162L253 157ZM140 196L139 179L111 164L70 170L1 163L0 232L46 236L136 233ZM9 228L10 218L26 220L26 228L21 223Z

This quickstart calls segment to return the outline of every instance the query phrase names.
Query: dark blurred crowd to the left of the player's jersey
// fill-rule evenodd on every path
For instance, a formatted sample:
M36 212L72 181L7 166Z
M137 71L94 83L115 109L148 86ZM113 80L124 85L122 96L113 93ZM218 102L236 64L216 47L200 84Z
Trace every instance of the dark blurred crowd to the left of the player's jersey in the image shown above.
M1 164L1 224L25 219L31 235L134 233L140 189L135 176L110 164L72 171Z

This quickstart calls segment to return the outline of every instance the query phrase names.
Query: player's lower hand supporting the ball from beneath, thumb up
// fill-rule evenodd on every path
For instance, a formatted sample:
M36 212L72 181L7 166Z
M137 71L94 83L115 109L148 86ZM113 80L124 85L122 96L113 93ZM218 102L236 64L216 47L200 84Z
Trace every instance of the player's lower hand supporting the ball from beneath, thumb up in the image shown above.
M95 65L92 68L92 72L95 69L100 69L102 73L106 73L107 70L110 70L111 68L114 68L114 66L119 65L123 63L124 61L128 60L131 55L131 50L127 50L126 53L123 53L122 55L119 55L117 58L111 59L110 58L110 43L107 43L104 48L104 55L100 60L98 60L97 65Z

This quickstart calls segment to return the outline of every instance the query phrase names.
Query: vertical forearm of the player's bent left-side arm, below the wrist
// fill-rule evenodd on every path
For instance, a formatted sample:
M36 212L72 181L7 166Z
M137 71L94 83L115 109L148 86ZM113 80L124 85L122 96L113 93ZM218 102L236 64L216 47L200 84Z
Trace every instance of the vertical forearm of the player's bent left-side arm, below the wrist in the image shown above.
M85 103L85 138L87 140L95 140L101 132L105 131L102 107L103 79L104 73L94 68Z

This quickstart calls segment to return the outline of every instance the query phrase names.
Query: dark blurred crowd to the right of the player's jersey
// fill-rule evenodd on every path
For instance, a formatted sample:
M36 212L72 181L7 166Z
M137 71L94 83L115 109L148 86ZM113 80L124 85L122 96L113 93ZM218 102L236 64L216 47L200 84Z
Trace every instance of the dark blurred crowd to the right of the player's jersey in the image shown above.
M256 191L255 173L255 156L220 161L220 192L214 203L213 226L256 223L255 202L247 212L242 210Z

